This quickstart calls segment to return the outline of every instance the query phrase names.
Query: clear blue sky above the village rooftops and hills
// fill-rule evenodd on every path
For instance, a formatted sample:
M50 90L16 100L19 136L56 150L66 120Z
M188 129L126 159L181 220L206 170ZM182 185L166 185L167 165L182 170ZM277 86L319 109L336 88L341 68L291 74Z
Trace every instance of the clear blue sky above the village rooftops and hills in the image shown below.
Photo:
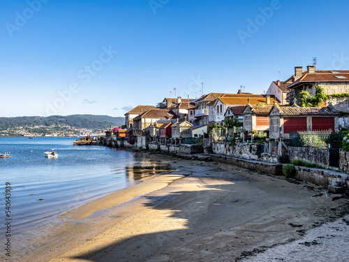
M295 66L349 69L348 1L0 1L1 117L124 116L209 92L262 94ZM253 24L251 24L251 22ZM348 57L348 58L347 58Z

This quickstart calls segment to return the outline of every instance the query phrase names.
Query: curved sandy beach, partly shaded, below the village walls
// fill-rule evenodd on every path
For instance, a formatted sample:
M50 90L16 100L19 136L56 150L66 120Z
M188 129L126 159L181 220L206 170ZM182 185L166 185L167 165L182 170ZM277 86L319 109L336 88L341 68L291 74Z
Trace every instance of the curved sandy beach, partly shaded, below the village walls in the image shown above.
M340 195L221 163L145 157L175 171L15 236L4 260L348 261L348 200L332 201Z

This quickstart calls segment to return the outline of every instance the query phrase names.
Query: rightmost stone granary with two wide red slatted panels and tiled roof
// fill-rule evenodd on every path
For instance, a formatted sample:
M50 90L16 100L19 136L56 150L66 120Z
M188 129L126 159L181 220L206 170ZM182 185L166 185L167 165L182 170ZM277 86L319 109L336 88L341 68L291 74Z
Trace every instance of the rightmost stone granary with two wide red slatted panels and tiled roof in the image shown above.
M300 131L338 131L339 112L332 106L300 108L298 105L280 106L276 103L269 112L269 138L289 139L290 133Z

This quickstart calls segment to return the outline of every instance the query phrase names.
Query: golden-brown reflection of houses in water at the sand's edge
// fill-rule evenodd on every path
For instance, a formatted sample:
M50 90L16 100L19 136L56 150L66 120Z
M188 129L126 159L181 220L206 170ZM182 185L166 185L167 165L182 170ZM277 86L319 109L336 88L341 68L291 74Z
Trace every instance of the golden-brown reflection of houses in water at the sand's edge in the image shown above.
M126 177L130 182L141 180L150 175L168 172L170 165L161 161L141 162L139 165L126 167Z

